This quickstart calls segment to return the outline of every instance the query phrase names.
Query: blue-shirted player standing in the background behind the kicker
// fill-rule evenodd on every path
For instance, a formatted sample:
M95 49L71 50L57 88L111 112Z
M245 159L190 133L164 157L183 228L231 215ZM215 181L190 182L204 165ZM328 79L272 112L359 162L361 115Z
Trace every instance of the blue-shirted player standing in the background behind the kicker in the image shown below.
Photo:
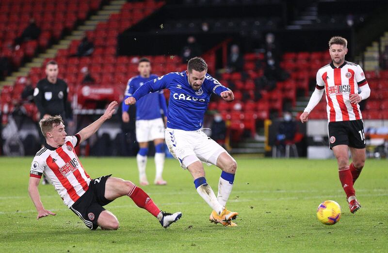
M151 74L151 63L147 58L139 60L138 71L140 75L129 79L127 89L125 90L125 99L132 96L132 94L140 86L149 80L157 78L157 75ZM128 114L129 106L122 103L124 122L129 122ZM166 181L162 178L164 166L164 124L167 117L162 120L161 109L163 114L167 115L166 100L163 91L146 94L144 98L136 104L136 140L139 143L139 152L137 153L137 168L139 169L140 185L148 185L146 177L148 141L153 140L155 145L155 185L165 185Z

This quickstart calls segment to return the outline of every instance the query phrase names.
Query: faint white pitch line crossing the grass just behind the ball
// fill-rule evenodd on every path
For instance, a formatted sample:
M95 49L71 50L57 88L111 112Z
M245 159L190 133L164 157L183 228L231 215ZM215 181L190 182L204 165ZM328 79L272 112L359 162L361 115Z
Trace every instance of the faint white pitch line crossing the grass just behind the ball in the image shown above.
M330 196L331 198L341 198L343 197L343 194L340 195L334 195ZM358 197L381 197L381 196L388 196L388 193L384 194L358 194ZM251 201L284 201L284 200L311 200L311 199L317 199L317 198L324 198L327 197L327 195L322 195L322 196L313 196L313 197L286 197L286 198L254 198L254 199L234 199L234 200L229 200L229 202L251 202ZM160 203L160 205L187 205L187 204L205 204L204 202L170 202L170 203ZM110 210L114 209L121 209L121 208L128 208L129 206L133 206L132 203L128 203L126 205L114 205L110 206ZM61 209L49 209L52 212L58 212L58 211L66 211L68 210L67 208L61 208ZM25 211L19 211L19 212L0 212L0 215L9 215L9 214L24 214L24 213L34 213L36 210L25 210Z

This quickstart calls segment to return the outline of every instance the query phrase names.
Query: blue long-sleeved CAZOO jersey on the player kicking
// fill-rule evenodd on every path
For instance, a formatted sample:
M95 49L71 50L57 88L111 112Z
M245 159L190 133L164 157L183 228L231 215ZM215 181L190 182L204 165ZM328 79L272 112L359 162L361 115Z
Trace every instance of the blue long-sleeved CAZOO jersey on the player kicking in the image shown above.
M211 93L220 95L221 92L228 90L206 74L201 88L195 91L189 84L186 72L183 71L171 72L147 82L133 94L133 97L136 101L141 101L140 98L149 92L166 88L170 90L167 127L186 131L196 131L202 127Z

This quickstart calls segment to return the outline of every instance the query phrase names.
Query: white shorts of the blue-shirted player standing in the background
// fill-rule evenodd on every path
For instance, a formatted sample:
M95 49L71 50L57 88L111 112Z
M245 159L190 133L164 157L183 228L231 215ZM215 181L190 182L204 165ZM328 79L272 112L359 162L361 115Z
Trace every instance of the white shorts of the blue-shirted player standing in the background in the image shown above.
M136 120L137 142L148 142L155 139L164 139L163 119Z

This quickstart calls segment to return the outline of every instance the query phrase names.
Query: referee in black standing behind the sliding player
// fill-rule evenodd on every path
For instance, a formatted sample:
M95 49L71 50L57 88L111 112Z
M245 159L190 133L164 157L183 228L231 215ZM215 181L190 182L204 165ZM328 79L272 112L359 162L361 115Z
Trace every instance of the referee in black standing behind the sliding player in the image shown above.
M66 82L58 78L58 63L49 61L46 64L46 78L40 80L36 84L33 92L33 100L38 107L40 119L50 116L60 115L63 119L68 119L68 124L72 126L73 113L70 103L67 101L69 88ZM40 143L42 146L46 143L46 139L39 131ZM43 178L42 184L49 184L47 178Z

